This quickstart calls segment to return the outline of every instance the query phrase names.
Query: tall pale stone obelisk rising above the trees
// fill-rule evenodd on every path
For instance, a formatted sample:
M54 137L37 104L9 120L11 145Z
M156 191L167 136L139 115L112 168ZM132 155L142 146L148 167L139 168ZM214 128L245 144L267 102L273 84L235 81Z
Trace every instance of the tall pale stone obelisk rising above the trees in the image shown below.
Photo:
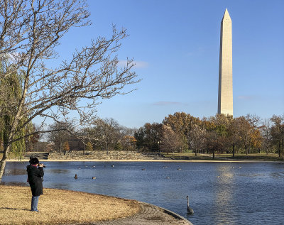
M231 17L226 10L221 22L218 114L233 115L233 67Z

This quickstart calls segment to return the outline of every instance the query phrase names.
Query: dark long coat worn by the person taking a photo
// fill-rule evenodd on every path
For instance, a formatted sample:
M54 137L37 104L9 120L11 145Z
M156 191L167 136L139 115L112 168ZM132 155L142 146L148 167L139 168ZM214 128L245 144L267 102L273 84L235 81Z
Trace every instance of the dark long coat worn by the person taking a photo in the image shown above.
M36 168L33 165L27 166L28 182L30 183L31 192L33 196L40 196L43 194L43 168Z

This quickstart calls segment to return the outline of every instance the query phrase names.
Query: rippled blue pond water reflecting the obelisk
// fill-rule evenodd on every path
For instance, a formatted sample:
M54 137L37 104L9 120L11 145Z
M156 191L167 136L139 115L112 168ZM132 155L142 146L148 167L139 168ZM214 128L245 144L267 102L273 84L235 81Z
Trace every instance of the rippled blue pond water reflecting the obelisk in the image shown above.
M284 163L45 164L44 187L137 199L170 209L195 225L284 224ZM7 163L1 184L28 186L26 165ZM192 216L187 215L187 195Z

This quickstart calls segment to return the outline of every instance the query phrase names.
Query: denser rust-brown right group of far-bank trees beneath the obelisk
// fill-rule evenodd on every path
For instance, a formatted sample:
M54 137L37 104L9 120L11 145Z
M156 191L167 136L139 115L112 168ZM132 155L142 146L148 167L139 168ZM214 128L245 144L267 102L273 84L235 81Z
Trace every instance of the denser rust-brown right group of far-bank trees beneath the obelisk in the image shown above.
M259 116L209 118L176 112L161 124L145 124L134 133L138 150L192 153L284 154L284 115L262 120Z

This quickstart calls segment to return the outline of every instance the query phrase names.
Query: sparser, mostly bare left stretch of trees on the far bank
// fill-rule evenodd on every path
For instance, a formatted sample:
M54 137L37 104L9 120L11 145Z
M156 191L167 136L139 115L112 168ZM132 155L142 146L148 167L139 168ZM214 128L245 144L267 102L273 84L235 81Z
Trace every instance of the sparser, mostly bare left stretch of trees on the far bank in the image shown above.
M114 119L97 119L89 128L75 129L71 124L53 124L48 134L50 150L65 153L69 150L136 150L134 129L121 126ZM75 131L76 130L76 131Z

